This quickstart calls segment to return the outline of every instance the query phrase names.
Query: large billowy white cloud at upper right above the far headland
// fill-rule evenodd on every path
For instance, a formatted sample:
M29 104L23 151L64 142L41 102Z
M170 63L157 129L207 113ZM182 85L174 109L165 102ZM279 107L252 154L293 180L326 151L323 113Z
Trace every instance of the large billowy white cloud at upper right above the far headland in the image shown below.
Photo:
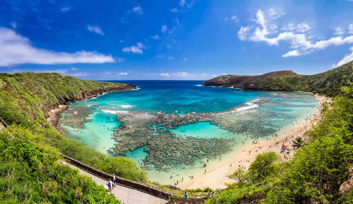
M281 15L282 13L278 11L277 13L274 11L264 12L259 9L256 13L256 19L254 19L257 25L242 26L238 31L239 39L253 42L266 42L270 46L278 45L280 41L286 41L290 44L289 48L293 50L283 54L283 57L306 55L315 50L325 49L332 45L338 46L353 43L353 36L337 36L331 37L328 40L313 42L313 36L307 36L306 33L298 33L300 29L302 29L301 31L308 29L309 25L307 26L305 24L300 24L301 26L295 26L295 28L294 26L290 26L289 28L292 29L292 31L285 31L275 37L269 37L269 35L273 35L277 32L276 29L274 29L276 26L271 29L273 20L279 18Z

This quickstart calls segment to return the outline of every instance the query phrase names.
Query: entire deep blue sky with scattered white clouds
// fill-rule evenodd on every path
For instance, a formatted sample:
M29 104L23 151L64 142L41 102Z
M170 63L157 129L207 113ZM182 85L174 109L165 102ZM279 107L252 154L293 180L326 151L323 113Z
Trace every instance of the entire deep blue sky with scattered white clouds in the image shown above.
M0 72L209 79L353 60L353 0L2 0Z

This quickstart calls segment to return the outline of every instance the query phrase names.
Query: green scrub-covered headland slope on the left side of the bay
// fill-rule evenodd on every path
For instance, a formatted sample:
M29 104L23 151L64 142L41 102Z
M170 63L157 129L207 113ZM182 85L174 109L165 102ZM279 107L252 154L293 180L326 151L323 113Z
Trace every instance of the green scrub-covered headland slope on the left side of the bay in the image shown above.
M58 73L0 73L0 91L9 94L29 118L45 119L50 109L70 101L78 101L101 95L103 92L136 89L122 83L82 80ZM0 109L0 117L7 121Z

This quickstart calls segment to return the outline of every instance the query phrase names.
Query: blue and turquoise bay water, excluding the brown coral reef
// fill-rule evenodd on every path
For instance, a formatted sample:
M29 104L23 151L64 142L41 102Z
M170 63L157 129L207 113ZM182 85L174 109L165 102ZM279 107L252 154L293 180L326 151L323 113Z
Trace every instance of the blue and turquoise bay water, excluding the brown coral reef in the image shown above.
M110 92L90 100L72 103L70 108L62 114L60 126L65 130L67 137L78 139L103 153L115 146L112 139L114 130L121 125L121 115L131 114L131 126L144 121L148 114L187 114L211 113L219 125L209 121L192 122L169 129L176 137L195 138L232 138L237 145L245 140L245 133L236 133L225 130L221 126L241 126L240 129L251 130L252 137L268 137L268 130L279 133L286 128L292 128L293 121L305 120L315 112L318 106L314 96L299 92L273 91L231 91L233 88L201 86L203 81L176 81L176 80L129 80L118 81L134 84L137 90ZM267 103L258 105L256 100L263 99ZM67 113L75 108L82 107L89 115L83 128L72 127L66 123ZM76 114L76 113L75 113ZM136 118L136 120L133 120ZM256 129L256 130L252 130ZM249 141L249 140L248 140ZM148 145L147 145L148 146ZM126 151L122 156L132 158L139 164L149 155L143 147L134 151ZM239 149L239 148L238 148ZM164 154L165 152L161 152ZM205 161L196 161L200 164ZM212 165L210 161L210 165ZM185 166L183 163L172 168L172 172L148 171L152 181L162 184L171 184L170 174L197 175L198 168Z

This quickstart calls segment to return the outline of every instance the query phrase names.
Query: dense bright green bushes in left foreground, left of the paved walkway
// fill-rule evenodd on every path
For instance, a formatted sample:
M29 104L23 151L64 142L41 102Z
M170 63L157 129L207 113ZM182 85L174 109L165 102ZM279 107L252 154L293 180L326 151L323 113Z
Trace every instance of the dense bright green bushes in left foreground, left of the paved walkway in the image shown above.
M58 164L59 154L27 143L32 137L21 127L0 131L0 203L120 203L91 178Z

